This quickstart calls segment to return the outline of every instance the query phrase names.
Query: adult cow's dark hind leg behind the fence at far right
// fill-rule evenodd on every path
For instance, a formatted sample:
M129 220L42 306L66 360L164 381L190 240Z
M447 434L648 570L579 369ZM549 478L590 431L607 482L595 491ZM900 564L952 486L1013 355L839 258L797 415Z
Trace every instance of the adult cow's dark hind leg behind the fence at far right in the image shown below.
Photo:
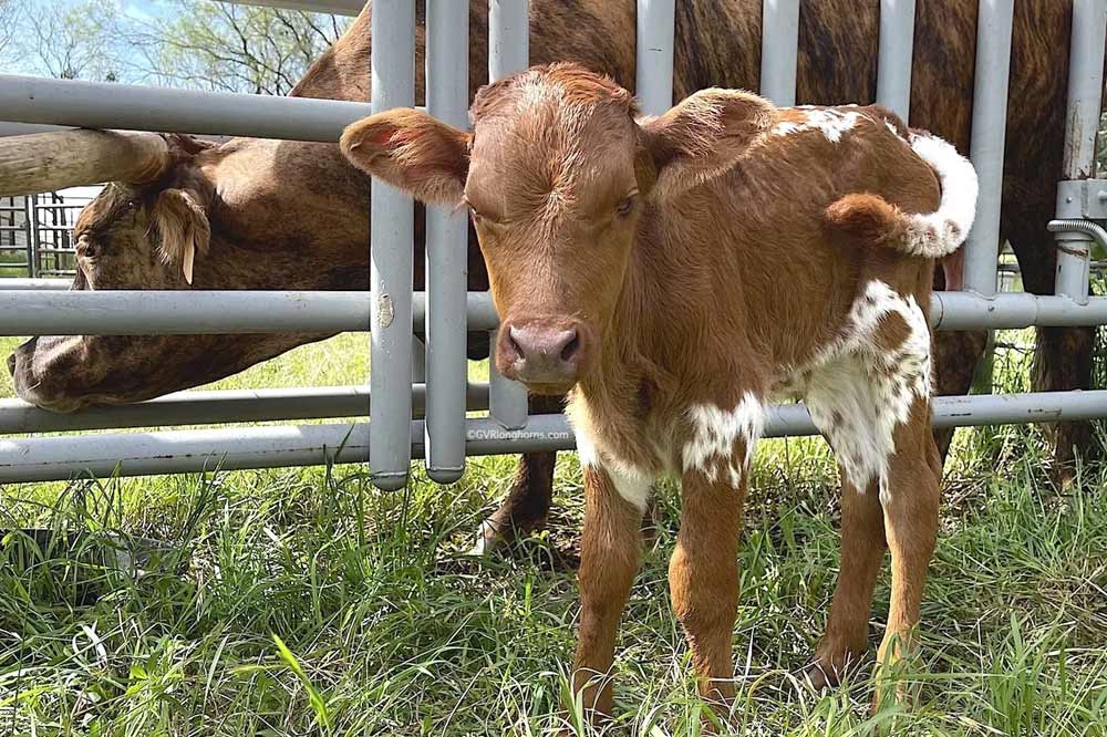
M1023 287L1034 294L1054 293L1056 239L1045 227L1053 217L1052 203L1036 208L1018 208L1010 216L1011 246L1018 258ZM1063 392L1090 388L1095 335L1095 328L1038 328L1034 390ZM1047 425L1046 434L1053 445L1058 480L1062 482L1072 479L1077 454L1088 458L1097 450L1092 442L1092 425L1086 422Z

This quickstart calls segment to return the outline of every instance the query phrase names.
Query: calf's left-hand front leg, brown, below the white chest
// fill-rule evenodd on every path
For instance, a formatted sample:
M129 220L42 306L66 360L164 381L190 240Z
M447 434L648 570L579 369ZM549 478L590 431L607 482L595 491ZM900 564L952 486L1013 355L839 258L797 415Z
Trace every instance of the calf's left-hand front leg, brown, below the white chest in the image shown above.
M608 471L584 468L584 529L580 541L580 632L572 671L572 692L580 694L590 718L611 714L610 669L615 634L630 593L641 548L641 520L649 482L620 482L620 496Z

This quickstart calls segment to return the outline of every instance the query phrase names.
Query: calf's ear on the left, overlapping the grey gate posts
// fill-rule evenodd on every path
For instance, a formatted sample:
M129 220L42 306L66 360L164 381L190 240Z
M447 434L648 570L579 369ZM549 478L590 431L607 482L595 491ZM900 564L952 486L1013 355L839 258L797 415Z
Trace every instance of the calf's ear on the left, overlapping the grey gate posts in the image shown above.
M469 134L426 113L396 108L350 125L342 153L354 166L430 205L457 206L469 170Z

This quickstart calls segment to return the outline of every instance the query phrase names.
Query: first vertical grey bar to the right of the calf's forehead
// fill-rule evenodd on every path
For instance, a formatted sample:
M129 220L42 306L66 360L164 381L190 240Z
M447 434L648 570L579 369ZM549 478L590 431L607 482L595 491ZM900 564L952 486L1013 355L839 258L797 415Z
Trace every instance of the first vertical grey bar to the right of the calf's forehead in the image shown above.
M676 0L638 0L634 92L646 115L661 115L673 106L675 25Z

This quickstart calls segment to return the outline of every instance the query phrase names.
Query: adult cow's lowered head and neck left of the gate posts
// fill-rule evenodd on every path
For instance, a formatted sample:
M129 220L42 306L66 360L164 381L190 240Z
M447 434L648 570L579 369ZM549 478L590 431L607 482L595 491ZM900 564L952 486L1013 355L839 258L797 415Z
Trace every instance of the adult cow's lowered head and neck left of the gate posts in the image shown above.
M339 205L350 207L341 193L364 198L363 177L334 146L90 131L0 145L23 147L28 160L48 145L58 156L51 136L69 136L72 162L45 178L34 173L40 187L116 180L77 219L74 290L358 289L365 280L363 266L342 267L315 242L343 229L351 233L341 240L368 242L366 219ZM318 179L328 158L335 179ZM321 203L315 191L338 199ZM70 412L208 383L319 338L48 335L22 344L8 367L23 399Z

